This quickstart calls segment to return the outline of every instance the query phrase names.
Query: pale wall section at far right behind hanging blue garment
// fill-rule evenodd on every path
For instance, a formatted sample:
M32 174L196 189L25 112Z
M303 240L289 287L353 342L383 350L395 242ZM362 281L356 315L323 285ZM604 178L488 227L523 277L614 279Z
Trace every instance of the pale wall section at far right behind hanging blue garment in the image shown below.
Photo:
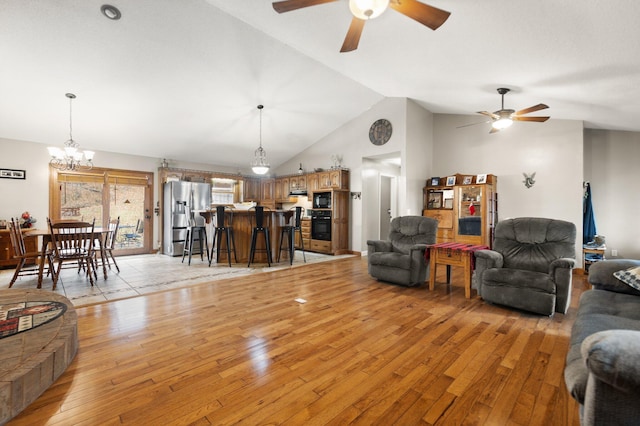
M591 183L598 234L606 238L605 255L640 259L640 133L613 130L584 132L584 178Z

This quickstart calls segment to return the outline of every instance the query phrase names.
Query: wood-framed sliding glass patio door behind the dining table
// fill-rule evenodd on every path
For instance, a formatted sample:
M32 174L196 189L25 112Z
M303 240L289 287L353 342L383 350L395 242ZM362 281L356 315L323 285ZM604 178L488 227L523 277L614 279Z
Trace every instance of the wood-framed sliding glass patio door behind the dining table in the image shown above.
M95 219L96 227L120 218L116 252L150 253L153 235L153 173L115 169L86 172L51 168L49 216Z

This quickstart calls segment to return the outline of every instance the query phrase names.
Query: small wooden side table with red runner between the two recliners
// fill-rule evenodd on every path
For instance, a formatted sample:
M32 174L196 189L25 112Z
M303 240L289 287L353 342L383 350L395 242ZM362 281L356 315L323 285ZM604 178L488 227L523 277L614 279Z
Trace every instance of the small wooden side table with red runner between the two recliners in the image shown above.
M433 291L436 284L436 273L438 265L447 265L447 284L450 276L448 269L451 266L461 266L464 268L464 297L471 298L471 274L473 272L473 253L476 250L488 249L484 245L460 244L460 243L438 243L428 247L429 261L431 262L429 273L429 291Z

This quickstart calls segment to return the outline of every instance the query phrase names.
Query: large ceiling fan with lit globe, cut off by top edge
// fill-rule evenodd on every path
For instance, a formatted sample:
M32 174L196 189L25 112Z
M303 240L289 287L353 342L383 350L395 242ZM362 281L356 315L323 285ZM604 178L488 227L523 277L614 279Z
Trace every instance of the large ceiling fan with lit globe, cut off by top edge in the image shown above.
M273 2L273 8L278 13L284 13L335 1L339 0L283 0ZM387 7L395 9L432 30L438 29L451 14L417 0L349 0L349 9L351 9L353 18L340 52L356 50L365 22L380 16Z

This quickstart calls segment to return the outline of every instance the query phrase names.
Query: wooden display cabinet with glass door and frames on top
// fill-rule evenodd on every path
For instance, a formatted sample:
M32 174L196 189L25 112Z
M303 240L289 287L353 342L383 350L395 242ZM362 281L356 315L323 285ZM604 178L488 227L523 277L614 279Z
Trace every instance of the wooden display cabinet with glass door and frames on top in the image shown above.
M492 247L498 221L496 176L486 175L483 183L472 175L454 176L453 185L432 186L429 180L423 190L423 215L438 220L436 241Z

